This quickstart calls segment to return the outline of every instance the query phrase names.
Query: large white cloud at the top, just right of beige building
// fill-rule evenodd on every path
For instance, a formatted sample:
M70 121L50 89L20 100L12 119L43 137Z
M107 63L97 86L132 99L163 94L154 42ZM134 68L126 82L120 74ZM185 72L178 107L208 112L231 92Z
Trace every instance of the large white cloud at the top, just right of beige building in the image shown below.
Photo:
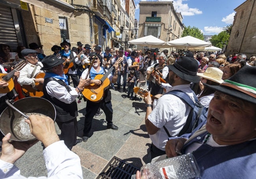
M176 12L181 12L182 16L202 14L202 11L198 8L190 8L187 4L182 4L182 1L186 0L173 0L174 9L176 9Z

